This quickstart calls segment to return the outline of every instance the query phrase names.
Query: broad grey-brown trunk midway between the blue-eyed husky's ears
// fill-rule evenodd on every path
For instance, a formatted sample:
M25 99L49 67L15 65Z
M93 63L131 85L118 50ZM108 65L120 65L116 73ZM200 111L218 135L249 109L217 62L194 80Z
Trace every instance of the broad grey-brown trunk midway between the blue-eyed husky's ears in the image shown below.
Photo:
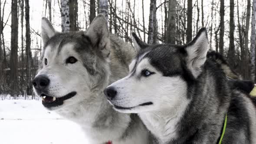
M167 36L166 42L175 44L175 36L176 36L176 0L169 0L168 3L168 19L167 19Z

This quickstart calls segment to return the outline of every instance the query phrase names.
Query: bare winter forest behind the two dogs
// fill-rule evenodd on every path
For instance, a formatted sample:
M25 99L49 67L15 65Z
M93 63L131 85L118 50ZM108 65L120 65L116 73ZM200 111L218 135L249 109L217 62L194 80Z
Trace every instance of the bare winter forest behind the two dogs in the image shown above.
M43 16L64 32L105 13L109 31L128 43L136 32L146 43L184 45L206 27L209 49L255 81L255 12L256 0L0 0L0 99L34 98Z

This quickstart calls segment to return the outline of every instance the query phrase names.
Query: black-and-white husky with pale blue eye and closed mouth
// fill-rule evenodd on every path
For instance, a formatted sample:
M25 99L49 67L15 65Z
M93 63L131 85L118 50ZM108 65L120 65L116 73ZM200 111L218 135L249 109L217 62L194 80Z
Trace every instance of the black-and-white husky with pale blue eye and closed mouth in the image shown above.
M129 74L104 90L115 110L138 113L161 144L216 144L222 134L223 144L256 144L253 102L207 59L205 28L185 46L148 45L133 36L140 51Z

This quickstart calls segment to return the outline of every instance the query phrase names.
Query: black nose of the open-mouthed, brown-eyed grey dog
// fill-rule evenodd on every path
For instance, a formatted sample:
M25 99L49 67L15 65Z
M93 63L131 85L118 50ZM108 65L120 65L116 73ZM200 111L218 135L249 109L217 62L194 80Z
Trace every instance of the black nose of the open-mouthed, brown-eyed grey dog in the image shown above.
M36 90L43 91L50 83L50 80L46 77L46 75L38 75L35 79L33 79L32 84Z

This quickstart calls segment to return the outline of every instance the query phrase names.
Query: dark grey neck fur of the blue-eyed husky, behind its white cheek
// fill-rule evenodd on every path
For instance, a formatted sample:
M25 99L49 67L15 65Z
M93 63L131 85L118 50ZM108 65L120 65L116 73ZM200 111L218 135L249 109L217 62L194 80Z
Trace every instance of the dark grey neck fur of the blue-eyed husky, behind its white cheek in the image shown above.
M212 80L211 84L206 82L209 78ZM216 89L210 91L210 88ZM215 92L215 94L209 92ZM188 82L187 97L191 98L191 101L177 123L178 134L171 143L217 142L230 105L225 74L217 65L207 60L200 76L193 82ZM211 105L217 107L214 108ZM206 138L208 141L203 141Z

